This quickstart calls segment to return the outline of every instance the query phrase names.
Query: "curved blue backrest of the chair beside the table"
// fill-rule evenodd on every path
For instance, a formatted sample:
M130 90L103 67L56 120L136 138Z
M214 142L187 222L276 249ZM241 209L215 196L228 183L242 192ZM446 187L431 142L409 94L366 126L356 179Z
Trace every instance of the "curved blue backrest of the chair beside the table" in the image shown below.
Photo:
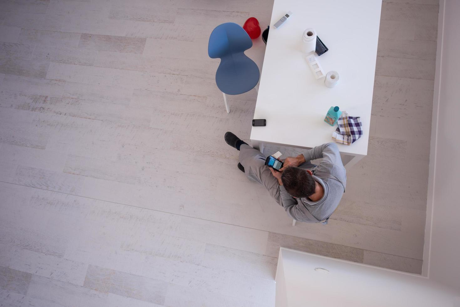
M207 53L210 58L223 58L232 53L244 52L252 46L253 41L240 25L222 23L211 33Z

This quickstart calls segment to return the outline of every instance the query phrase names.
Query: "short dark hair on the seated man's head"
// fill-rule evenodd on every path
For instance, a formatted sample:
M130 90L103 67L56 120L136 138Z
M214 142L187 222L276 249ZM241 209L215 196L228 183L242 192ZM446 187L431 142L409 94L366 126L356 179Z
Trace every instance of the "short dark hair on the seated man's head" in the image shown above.
M315 180L303 168L286 168L281 175L284 188L293 197L309 197L315 193Z

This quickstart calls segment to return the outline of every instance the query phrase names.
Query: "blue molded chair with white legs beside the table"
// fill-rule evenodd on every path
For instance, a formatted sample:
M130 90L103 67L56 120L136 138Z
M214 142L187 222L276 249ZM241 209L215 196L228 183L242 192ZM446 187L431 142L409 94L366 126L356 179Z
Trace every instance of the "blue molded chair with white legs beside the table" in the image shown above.
M251 48L253 42L246 31L236 23L222 23L209 37L207 53L210 58L220 58L216 72L216 84L224 95L225 109L228 95L246 93L259 82L259 67L248 58L244 51ZM255 88L257 91L257 88Z

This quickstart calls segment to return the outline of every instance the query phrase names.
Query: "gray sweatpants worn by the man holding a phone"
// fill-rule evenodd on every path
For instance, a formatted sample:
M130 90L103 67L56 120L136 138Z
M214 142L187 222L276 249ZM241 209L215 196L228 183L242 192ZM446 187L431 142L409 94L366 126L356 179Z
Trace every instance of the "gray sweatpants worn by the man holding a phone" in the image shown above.
M240 163L244 166L246 176L265 186L280 206L283 206L280 194L280 185L278 180L271 174L270 168L265 165L267 159L259 150L243 144L240 146Z

